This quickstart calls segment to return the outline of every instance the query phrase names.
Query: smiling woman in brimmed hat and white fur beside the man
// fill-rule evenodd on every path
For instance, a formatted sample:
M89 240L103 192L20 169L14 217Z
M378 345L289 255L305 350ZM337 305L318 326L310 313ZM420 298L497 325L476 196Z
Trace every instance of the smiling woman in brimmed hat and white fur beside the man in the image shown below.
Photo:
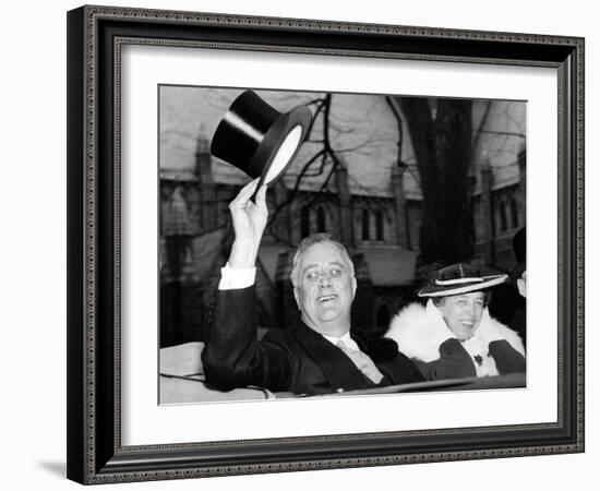
M488 289L506 275L483 276L454 264L436 271L419 297L393 320L386 337L417 363L425 379L443 380L525 372L518 334L490 316Z

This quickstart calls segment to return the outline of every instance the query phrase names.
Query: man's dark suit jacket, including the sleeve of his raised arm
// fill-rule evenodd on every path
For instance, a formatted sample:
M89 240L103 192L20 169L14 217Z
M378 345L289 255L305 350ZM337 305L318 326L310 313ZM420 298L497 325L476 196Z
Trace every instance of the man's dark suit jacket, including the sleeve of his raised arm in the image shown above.
M204 373L221 391L257 385L273 392L327 394L377 386L339 348L303 324L293 331L272 330L259 342L253 286L218 290L208 330ZM351 336L384 375L380 386L423 380L394 340Z

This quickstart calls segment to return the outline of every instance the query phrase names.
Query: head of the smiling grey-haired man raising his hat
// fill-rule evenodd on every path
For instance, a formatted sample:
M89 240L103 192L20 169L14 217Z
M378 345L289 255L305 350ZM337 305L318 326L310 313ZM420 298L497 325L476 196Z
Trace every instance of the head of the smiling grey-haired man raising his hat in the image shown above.
M319 242L308 248L298 264L297 282L293 296L309 327L332 336L350 330L357 280L336 246Z

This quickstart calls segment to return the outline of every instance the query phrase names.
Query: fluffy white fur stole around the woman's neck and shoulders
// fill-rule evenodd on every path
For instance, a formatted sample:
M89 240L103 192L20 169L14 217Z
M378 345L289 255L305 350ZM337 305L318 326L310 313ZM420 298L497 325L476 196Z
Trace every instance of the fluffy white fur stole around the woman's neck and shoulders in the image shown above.
M411 303L394 316L385 337L398 344L398 350L408 358L424 362L440 358L440 345L446 339L456 338L447 327L442 314L431 300L427 307ZM489 345L493 340L504 339L519 354L525 348L518 334L490 316L485 308L481 323L473 336L463 342L463 347L472 359L480 357L481 364L476 366L478 376L496 375L495 361L489 356Z

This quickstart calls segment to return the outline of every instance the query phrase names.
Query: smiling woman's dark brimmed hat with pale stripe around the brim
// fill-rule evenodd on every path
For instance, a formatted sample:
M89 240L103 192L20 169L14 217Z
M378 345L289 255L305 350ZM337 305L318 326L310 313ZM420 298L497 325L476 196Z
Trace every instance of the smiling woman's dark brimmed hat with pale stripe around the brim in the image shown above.
M433 272L419 297L447 297L479 291L504 283L508 275L488 275L469 264L453 264Z

